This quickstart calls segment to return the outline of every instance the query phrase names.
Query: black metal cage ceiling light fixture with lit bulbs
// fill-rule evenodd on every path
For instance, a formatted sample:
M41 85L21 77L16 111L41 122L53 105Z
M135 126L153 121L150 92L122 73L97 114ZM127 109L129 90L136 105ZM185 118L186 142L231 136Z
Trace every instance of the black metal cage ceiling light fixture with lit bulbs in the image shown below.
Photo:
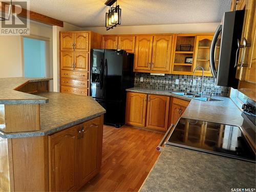
M115 7L113 6L114 3L116 3ZM117 0L108 0L105 5L110 6L109 12L105 15L105 27L108 31L117 25L121 25L121 9L117 5Z

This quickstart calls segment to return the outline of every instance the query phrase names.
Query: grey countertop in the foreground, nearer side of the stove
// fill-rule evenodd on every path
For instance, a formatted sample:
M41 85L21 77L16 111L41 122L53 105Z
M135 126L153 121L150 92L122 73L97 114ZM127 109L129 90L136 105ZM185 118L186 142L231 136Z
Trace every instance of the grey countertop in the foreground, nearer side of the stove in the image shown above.
M255 163L165 146L140 191L255 191Z

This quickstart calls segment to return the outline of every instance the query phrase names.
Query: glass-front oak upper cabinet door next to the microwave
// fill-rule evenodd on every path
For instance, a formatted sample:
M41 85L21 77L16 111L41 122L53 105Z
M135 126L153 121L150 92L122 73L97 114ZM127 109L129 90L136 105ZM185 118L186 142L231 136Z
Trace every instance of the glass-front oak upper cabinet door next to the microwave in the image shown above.
M203 67L205 75L211 76L210 71L210 45L212 41L212 35L204 35L196 37L196 49L195 49L195 57L194 57L194 68ZM199 74L202 74L201 69L197 70Z

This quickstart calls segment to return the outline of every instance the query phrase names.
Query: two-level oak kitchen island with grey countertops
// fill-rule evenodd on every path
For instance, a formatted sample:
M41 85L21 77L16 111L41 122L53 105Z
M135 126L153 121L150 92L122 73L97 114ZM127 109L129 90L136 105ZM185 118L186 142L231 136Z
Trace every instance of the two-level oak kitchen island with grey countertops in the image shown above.
M105 110L49 80L0 79L1 191L77 190L100 170Z

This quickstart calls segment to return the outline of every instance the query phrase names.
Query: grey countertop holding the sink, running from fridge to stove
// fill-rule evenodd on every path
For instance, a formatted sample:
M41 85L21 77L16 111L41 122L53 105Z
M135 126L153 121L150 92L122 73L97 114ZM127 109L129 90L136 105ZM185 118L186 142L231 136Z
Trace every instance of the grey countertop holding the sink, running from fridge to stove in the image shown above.
M243 117L236 104L228 97L214 96L221 101L200 101L171 93L171 91L131 88L129 92L177 97L190 101L182 117L201 121L241 126Z

